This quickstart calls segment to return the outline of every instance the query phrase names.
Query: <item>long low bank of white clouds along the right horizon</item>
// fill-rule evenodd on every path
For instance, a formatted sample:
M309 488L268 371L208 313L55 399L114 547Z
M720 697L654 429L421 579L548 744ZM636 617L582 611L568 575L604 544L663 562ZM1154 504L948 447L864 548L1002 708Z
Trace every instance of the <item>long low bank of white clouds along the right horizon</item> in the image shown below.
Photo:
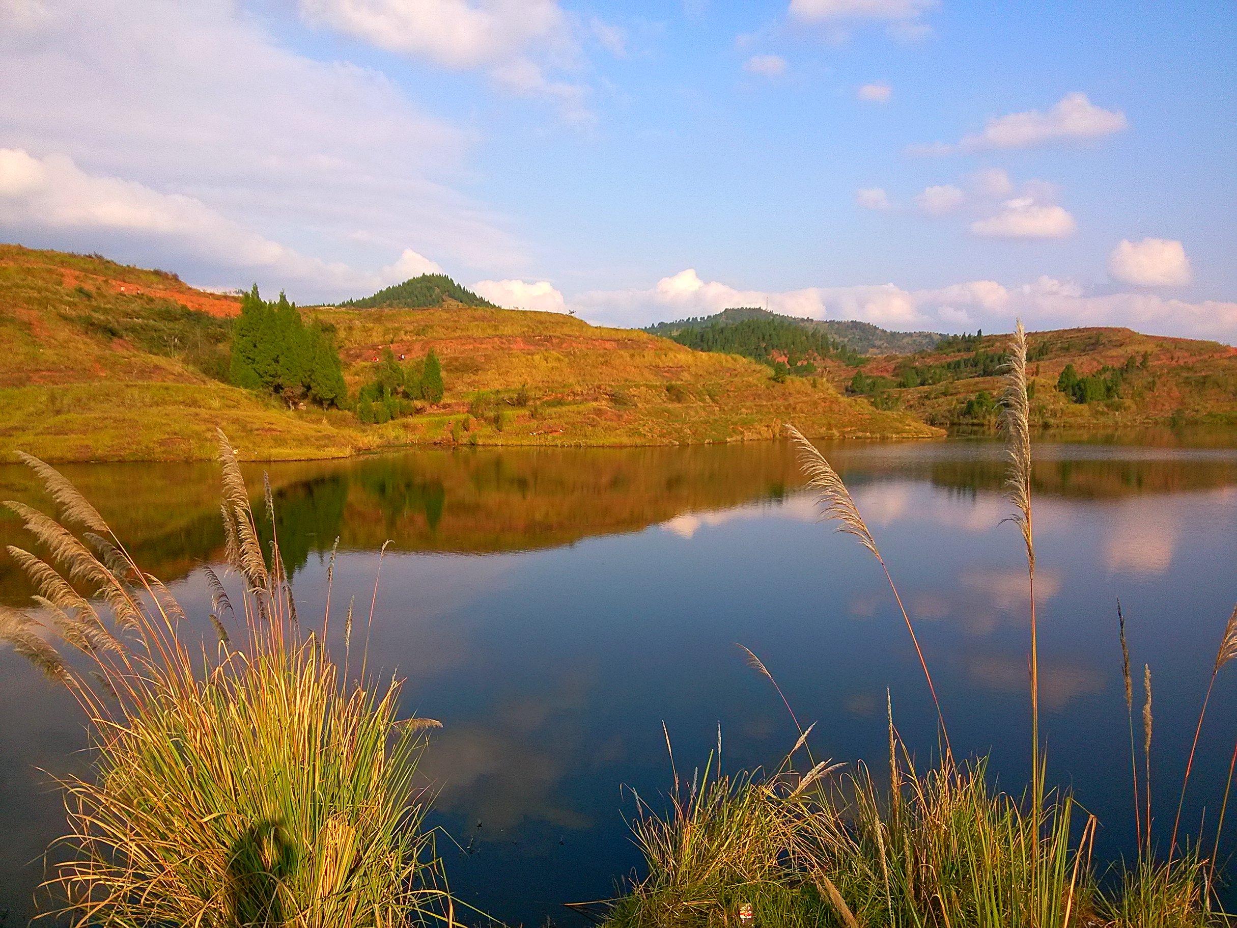
M785 316L860 319L902 330L956 332L976 325L1012 330L1014 319L1022 318L1032 329L1128 325L1152 334L1237 343L1237 302L1188 303L1145 292L1092 296L1071 281L1047 276L1017 287L964 281L935 290L881 283L760 291L705 281L688 269L648 290L591 291L570 302L584 318L611 325L647 325L767 303Z

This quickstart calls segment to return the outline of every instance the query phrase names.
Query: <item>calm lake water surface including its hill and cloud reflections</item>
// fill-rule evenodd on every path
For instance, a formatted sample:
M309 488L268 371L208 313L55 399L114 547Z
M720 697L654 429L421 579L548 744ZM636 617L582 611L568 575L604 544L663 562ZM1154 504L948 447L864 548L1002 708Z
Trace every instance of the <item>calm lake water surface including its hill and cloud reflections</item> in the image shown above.
M1018 531L990 440L824 447L877 538L933 669L959 754L991 754L999 783L1029 776L1028 610ZM1049 780L1098 815L1097 853L1134 845L1128 728L1116 634L1150 664L1157 833L1166 841L1194 724L1237 601L1237 436L1145 434L1035 448L1043 728ZM325 559L336 608L369 603L370 653L407 678L407 711L443 721L423 760L452 888L510 923L575 923L563 907L612 896L638 872L625 817L654 806L716 749L730 771L776 765L795 729L814 751L886 763L886 690L922 760L934 714L884 577L815 520L781 443L612 450L413 452L267 465L302 621L320 616ZM255 492L261 465L246 465ZM218 563L218 470L93 465L64 473L140 563L190 611ZM0 466L0 497L46 505ZM25 543L0 517L0 543ZM0 604L31 590L0 556ZM366 606L367 610L367 606ZM1237 739L1237 667L1221 671L1185 822L1207 822ZM51 775L83 770L72 700L0 652L0 911L32 913L41 854L63 828ZM46 772L41 772L46 771ZM1230 818L1222 851L1237 850ZM1210 828L1210 825L1209 825ZM1209 835L1213 833L1209 830ZM1210 840L1210 838L1209 838Z

